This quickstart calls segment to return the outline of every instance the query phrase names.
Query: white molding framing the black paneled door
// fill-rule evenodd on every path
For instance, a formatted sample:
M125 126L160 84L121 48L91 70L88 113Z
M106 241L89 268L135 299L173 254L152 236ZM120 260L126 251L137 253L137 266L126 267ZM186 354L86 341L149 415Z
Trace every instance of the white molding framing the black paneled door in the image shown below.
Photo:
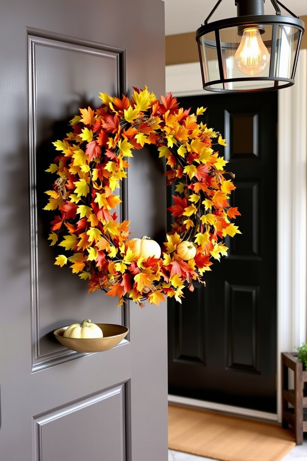
M281 353L294 351L295 346L306 341L306 82L307 50L301 50L295 85L278 91L277 414L256 412L257 417L279 422ZM198 62L166 66L166 92L169 91L174 96L215 95L203 90ZM180 396L168 396L168 401L255 416L255 410Z

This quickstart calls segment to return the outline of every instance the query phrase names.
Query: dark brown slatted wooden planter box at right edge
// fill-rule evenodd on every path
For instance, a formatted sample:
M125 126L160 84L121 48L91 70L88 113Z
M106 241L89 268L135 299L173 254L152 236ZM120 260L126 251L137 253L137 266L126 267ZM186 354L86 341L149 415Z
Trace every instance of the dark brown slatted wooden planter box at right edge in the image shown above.
M303 408L307 408L307 396L304 396L303 383L307 383L307 371L297 358L297 353L282 353L282 398L283 398L283 428L290 426L295 431L297 445L303 443L303 432L307 432L307 420L304 421ZM288 385L288 368L294 371L294 389ZM289 403L294 408L289 408Z

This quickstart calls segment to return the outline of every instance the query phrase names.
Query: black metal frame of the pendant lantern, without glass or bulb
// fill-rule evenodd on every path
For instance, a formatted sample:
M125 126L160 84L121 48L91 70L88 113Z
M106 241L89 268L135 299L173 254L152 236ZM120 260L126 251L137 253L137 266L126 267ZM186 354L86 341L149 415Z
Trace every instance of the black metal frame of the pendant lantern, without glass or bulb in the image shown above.
M250 92L250 91L268 91L273 89L286 88L295 83L295 71L299 55L299 50L301 46L301 37L304 33L305 25L303 21L295 16L288 8L286 8L278 0L270 0L276 15L264 15L264 0L235 0L237 5L237 14L236 18L228 18L220 21L215 21L208 24L209 19L220 5L222 0L219 0L214 6L213 10L210 12L208 18L206 18L204 25L202 25L196 31L196 41L198 44L199 59L201 63L201 71L203 78L203 89L209 91L216 91L220 93L235 93L235 92ZM279 6L282 6L291 16L282 16ZM272 26L272 37L269 41L264 41L264 44L267 47L271 48L270 54L270 64L269 64L269 75L266 77L261 77L261 74L258 74L256 77L240 77L240 78L227 78L226 74L226 51L236 50L238 45L237 43L225 42L220 38L220 30L227 28L237 27L237 35L240 36L243 33L243 30L246 28L257 28L260 33L264 33L266 26ZM278 47L278 26L280 28L291 28L295 30L293 37L296 42L295 57L293 60L293 65L291 68L290 75L285 76L276 76L275 75L275 59ZM204 35L214 32L215 40L209 40L205 38ZM206 47L206 50L212 48L217 52L217 61L219 68L219 79L218 80L208 80L208 75L205 75L205 65L203 62L204 51L202 53L202 47ZM243 75L243 74L242 74ZM207 77L207 78L206 78ZM250 85L248 88L243 89L232 89L232 83L238 82L249 82ZM254 83L253 83L254 82ZM272 82L271 86L266 88L259 88L255 85L255 82ZM220 85L221 84L221 85ZM222 88L214 88L214 85L220 85Z

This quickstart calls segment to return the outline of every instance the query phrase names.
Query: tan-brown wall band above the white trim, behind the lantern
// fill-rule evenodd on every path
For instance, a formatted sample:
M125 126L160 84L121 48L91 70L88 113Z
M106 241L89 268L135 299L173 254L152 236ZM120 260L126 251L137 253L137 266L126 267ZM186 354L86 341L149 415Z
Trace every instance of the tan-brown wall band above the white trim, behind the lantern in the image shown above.
M306 32L302 38L301 48L307 48L307 16L301 16L301 19L306 24ZM165 37L165 59L166 65L197 62L198 50L195 32L167 35Z

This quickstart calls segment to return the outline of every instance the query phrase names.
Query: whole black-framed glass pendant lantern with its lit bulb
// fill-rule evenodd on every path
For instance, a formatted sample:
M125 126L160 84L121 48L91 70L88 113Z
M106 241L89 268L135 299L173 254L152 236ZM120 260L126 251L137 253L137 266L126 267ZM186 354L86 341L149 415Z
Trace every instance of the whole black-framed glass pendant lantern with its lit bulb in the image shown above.
M264 0L235 0L237 18L196 31L203 89L220 93L266 91L294 84L304 23L278 0L276 15L264 14ZM291 16L282 16L279 6Z

